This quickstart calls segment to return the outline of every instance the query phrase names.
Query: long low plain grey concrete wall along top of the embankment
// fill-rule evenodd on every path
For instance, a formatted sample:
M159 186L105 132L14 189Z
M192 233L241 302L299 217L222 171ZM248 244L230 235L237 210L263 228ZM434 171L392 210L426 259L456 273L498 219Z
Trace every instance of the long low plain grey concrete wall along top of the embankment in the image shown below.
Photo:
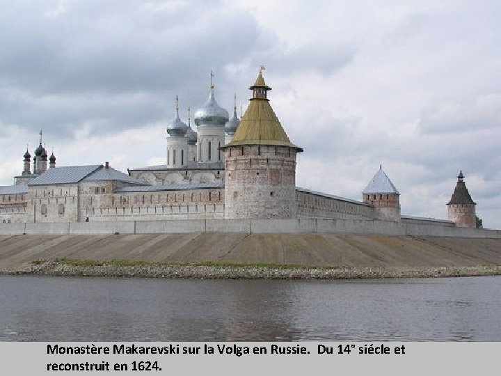
M361 219L196 219L0 224L0 235L145 233L335 233L501 238L501 230Z

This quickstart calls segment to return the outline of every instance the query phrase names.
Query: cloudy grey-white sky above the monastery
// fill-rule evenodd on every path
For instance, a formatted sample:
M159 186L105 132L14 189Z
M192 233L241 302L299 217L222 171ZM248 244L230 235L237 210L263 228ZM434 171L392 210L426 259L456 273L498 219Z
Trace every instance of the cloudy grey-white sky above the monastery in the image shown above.
M402 214L446 219L461 169L501 228L499 0L0 0L0 185L38 131L58 166L166 162L165 127L247 105L260 65L297 185L347 198L379 164ZM240 113L240 111L239 111Z

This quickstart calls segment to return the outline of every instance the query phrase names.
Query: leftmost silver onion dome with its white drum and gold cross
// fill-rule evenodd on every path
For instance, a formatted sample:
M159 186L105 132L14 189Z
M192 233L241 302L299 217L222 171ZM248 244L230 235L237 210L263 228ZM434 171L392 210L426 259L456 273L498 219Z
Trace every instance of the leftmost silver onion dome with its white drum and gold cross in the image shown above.
M185 167L188 163L188 125L179 117L179 97L176 95L176 117L167 125L167 166Z

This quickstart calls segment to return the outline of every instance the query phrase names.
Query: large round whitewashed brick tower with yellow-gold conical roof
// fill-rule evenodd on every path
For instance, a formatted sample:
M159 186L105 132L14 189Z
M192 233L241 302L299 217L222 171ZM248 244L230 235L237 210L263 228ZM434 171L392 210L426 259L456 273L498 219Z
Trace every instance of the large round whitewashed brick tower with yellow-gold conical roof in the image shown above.
M271 109L262 70L253 97L225 152L225 218L295 218L296 153Z

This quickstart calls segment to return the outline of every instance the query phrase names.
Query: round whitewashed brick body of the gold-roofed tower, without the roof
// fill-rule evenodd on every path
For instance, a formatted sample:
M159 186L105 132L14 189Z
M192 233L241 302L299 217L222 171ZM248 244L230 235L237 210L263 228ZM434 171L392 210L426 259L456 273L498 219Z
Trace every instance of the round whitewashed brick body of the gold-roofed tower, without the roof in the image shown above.
M225 218L296 217L295 148L231 146L225 167Z

